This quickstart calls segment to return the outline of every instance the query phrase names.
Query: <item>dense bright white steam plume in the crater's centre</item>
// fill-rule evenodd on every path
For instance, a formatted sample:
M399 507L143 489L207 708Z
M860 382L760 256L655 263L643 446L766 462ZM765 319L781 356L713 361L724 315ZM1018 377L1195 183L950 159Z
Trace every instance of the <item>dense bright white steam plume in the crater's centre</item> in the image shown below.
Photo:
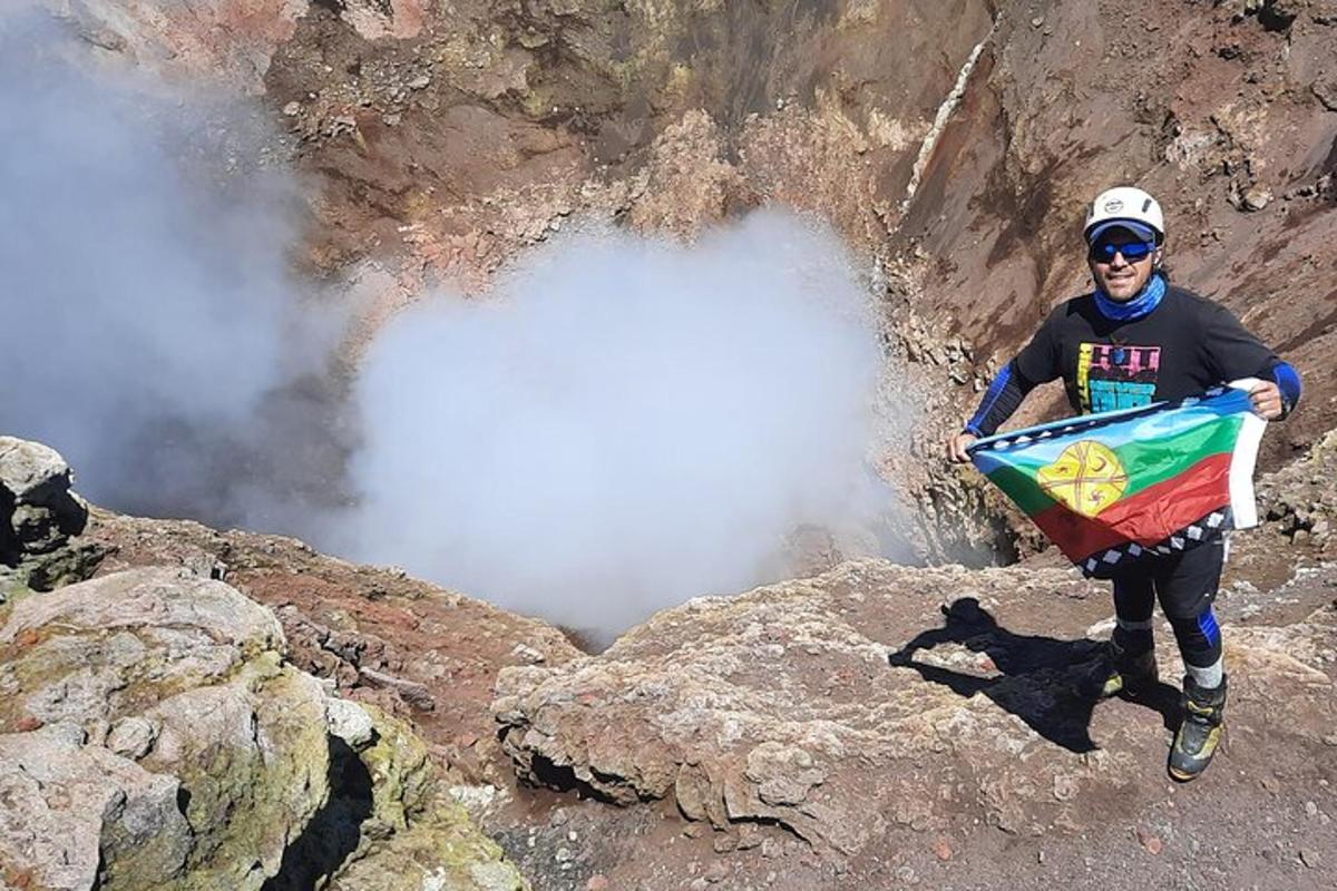
M559 239L488 301L424 301L357 381L342 545L604 639L782 577L796 528L893 510L868 303L829 230L774 211Z

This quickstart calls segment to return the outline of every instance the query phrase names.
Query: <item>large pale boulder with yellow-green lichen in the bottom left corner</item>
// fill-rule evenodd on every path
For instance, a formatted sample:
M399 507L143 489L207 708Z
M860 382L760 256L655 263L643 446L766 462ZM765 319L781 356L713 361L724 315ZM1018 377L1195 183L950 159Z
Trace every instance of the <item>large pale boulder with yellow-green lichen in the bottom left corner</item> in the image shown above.
M523 887L408 725L332 699L285 648L273 613L185 569L8 608L7 886Z

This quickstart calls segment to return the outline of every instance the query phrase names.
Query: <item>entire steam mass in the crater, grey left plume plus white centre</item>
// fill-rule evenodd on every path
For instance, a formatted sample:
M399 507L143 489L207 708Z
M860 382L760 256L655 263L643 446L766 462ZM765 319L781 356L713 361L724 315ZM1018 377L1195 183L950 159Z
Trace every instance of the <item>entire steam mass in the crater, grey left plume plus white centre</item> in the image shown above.
M829 230L556 239L392 322L345 410L345 319L290 274L257 112L70 56L0 16L0 431L95 501L303 534L604 640L790 574L804 525L896 546L865 461L876 325Z

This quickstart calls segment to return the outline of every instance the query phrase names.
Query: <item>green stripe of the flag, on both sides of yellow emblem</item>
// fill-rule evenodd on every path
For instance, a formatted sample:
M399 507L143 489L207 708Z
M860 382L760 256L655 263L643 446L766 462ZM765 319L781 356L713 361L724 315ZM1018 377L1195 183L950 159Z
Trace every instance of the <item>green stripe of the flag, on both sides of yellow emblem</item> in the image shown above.
M1128 485L1120 500L1183 473L1207 456L1233 452L1242 423L1239 415L1223 415L1178 435L1150 442L1130 441L1112 449L1124 473L1128 474ZM1090 438L1100 441L1099 434ZM1074 442L1079 439L1080 437L1074 437ZM1036 482L1036 473L1051 461L1036 461L1032 456L1024 454L1024 449L1007 454L1004 460L1013 462L1015 466L995 470L989 474L989 481L1015 501L1025 516L1034 517L1050 505L1058 504L1044 494Z

